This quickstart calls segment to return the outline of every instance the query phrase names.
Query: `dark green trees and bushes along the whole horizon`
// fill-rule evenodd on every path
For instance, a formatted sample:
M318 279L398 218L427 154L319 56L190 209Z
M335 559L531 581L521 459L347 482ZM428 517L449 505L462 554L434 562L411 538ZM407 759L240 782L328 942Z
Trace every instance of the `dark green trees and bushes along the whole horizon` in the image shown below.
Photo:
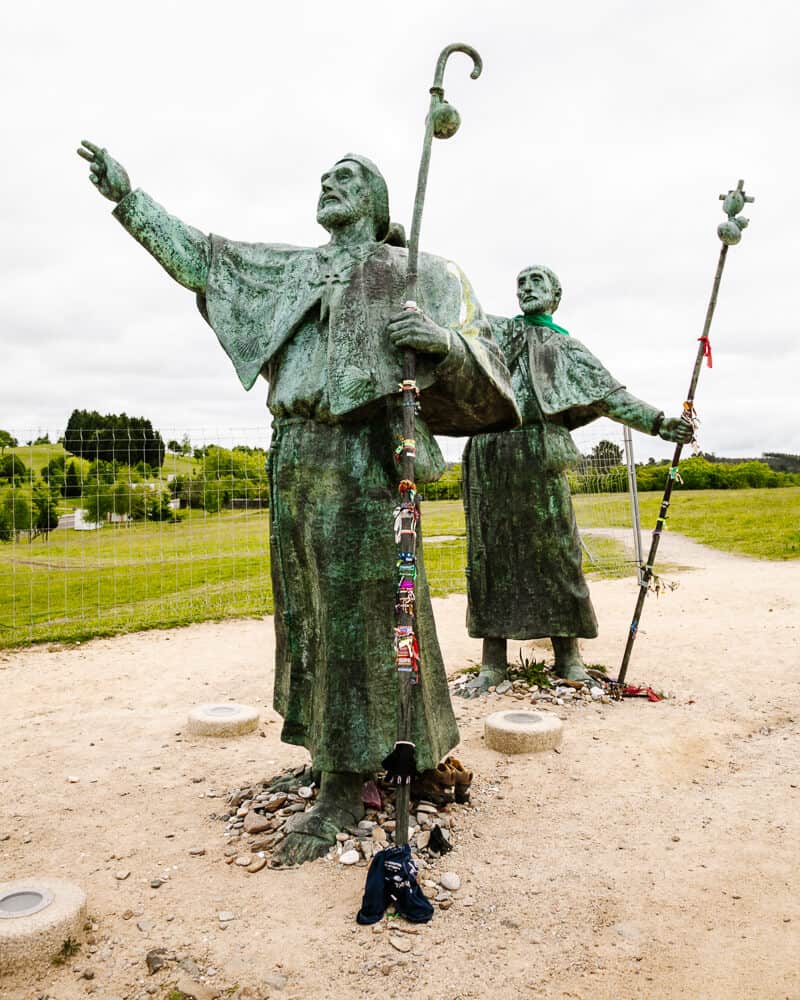
M49 444L49 438L45 435L34 443ZM89 410L73 411L60 443L65 453L53 455L37 473L14 450L16 439L0 430L0 541L18 532L47 535L57 526L59 511L75 507L84 509L90 521L101 523L174 521L181 516L176 507L217 513L269 506L267 453L260 448L227 449L215 444L193 448L186 435L165 446L161 434L143 417L131 422L125 414L103 417ZM195 467L164 477L165 451L191 456ZM638 489L662 490L668 470L669 462L652 458L638 465ZM770 452L762 460L733 461L701 455L682 461L679 471L687 489L796 486L800 456ZM601 441L581 456L567 477L575 494L622 493L628 488L622 449L611 441ZM427 500L460 500L461 465L449 464L441 479L425 484L423 493Z

